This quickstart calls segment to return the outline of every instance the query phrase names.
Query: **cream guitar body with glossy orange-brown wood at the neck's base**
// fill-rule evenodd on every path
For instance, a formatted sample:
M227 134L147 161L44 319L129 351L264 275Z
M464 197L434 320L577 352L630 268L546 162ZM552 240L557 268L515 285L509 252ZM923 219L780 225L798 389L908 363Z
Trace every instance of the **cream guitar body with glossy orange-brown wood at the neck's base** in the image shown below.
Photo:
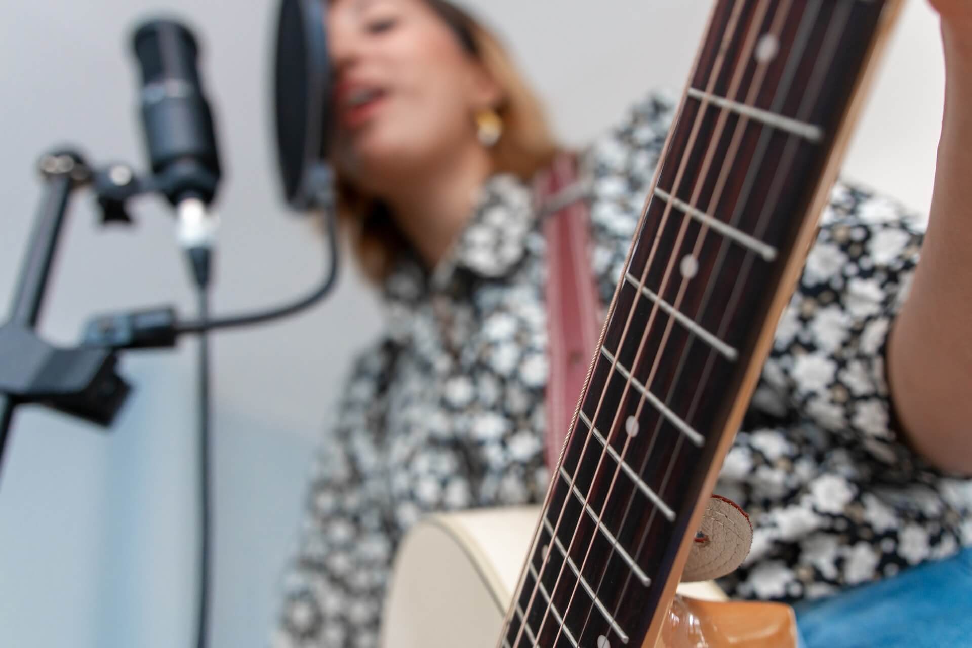
M382 648L495 648L539 512L540 507L469 511L416 526L399 548ZM705 645L796 645L792 611L785 605L719 602L726 597L712 582L683 583L678 594L686 597L679 621L693 615L705 627ZM663 636L661 645L699 644Z

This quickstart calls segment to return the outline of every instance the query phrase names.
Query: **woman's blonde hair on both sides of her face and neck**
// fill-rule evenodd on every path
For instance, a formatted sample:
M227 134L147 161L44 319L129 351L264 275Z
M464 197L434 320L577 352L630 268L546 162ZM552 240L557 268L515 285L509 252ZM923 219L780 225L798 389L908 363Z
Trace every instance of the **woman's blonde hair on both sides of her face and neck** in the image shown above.
M426 0L454 32L461 47L500 86L503 99L495 106L503 119L503 136L490 149L493 171L529 181L557 153L546 116L500 39L468 12L446 0ZM470 116L471 119L471 116ZM366 197L337 173L337 214L347 231L364 276L381 282L399 253L408 247L404 235L380 202Z

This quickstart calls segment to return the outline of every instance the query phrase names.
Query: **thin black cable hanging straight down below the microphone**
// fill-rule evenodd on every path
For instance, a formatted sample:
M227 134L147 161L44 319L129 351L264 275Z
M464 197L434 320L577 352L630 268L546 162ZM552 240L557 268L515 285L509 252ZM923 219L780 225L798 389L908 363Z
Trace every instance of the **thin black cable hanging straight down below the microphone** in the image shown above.
M209 315L209 290L198 286L198 316L202 322ZM210 593L210 543L212 521L210 519L210 375L209 375L209 334L205 328L199 331L199 376L198 376L198 480L199 480L199 612L196 630L196 648L206 648L209 630L209 593Z

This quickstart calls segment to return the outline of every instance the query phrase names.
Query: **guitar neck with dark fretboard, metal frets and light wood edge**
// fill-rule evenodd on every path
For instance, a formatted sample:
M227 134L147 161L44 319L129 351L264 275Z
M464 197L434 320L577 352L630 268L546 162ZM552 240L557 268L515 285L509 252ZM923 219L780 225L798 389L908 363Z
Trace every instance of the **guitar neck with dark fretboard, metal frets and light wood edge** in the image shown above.
M581 392L580 405L592 405L599 402L599 397L603 401L606 392L610 402L615 402L619 395L615 391L622 389L622 374L626 376L628 383L623 387L625 395L632 384L635 387L631 388L632 398L625 400L635 401L643 396L648 401L649 409L642 410L645 416L638 417L642 422L634 420L628 426L628 433L639 445L634 448L628 446L628 453L623 454L620 448L622 440L616 437L624 432L615 429L612 424L610 429L595 430L591 426L591 432L587 435L572 434L565 450L566 457L572 460L579 457L576 459L578 470L592 467L591 461L597 461L599 454L602 459L610 454L608 461L617 461L617 456L623 454L623 460L631 464L628 468L638 467L642 465L642 453L647 445L644 441L651 438L649 432L657 433L654 441L666 448L666 457L662 458L665 461L660 470L670 479L667 478L665 488L658 485L653 474L645 473L643 481L650 482L664 495L664 501L677 514L676 522L665 520L659 528L656 519L652 521L652 524L656 524L654 528L649 526L644 529L648 523L647 516L642 519L645 504L652 507L649 513L662 509L656 507L647 495L635 495L641 490L640 485L638 489L633 489L624 484L625 494L611 494L603 509L601 502L612 475L608 473L604 476L600 472L584 470L582 475L576 476L573 468L559 469L553 476L552 492L543 511L543 516L551 523L558 520L558 514L579 517L579 522L584 525L580 527L584 543L581 547L571 547L571 551L578 555L577 560L583 555L580 552L586 549L589 540L594 557L599 562L608 561L605 554L611 550L605 538L609 538L615 546L618 544L618 540L608 531L610 528L618 531L618 537L622 538L621 542L630 549L632 556L637 556L645 565L650 563L650 567L645 568L651 570L649 581L647 575L642 578L643 572L639 574L635 569L629 570L629 566L635 566L633 561L628 563L631 556L622 553L623 550L618 551L617 554L622 557L619 560L624 562L615 562L611 556L602 583L598 583L599 569L593 564L583 565L588 569L584 575L589 577L589 584L598 588L595 594L602 597L608 604L611 616L629 633L629 643L624 648L630 648L632 644L653 646L665 629L666 610L673 589L669 586L674 586L678 577L674 573L675 557L679 549L691 542L693 529L685 529L688 536L682 533L670 535L664 529L670 526L674 529L682 518L698 512L698 506L707 495L705 489L715 478L718 466L731 446L726 436L738 429L739 421L745 414L745 402L756 388L759 365L768 353L772 326L785 307L785 297L781 293L791 289L789 284L797 279L799 260L805 256L813 241L814 226L811 221L816 218L816 212L826 197L825 185L832 181L832 174L836 173L836 160L846 149L852 122L859 113L862 88L873 76L874 63L884 50L892 18L896 17L902 5L901 0L813 0L795 1L783 10L782 4L778 7L777 3L758 6L756 3L732 0L716 0L713 3L706 36L689 79L687 97L679 105L665 151L656 165L656 186L667 189L667 192L652 188L653 193L647 209L642 213L641 226L629 253L631 266L624 268L621 273L624 275L630 270L633 276L642 277L644 259L649 256L655 258L653 255L656 254L658 237L665 234L665 240L674 238L670 235L674 233L671 219L675 218L676 229L680 226L695 231L700 227L711 229L711 239L719 239L707 241L701 252L683 251L675 257L676 266L681 260L680 277L679 267L674 268L676 279L684 278L690 288L695 286L705 288L705 291L696 294L691 289L691 295L686 293L686 299L692 296L689 308L678 302L669 290L661 290L660 284L653 281L648 283L648 287L657 292L654 295L657 300L649 301L651 295L647 295L648 298L644 299L646 308L667 313L666 317L671 320L661 324L662 328L658 331L652 331L649 342L657 341L667 326L679 328L669 329L676 334L677 340L673 340L668 349L658 353L659 349L653 345L650 349L644 349L644 355L639 356L637 361L632 359L628 351L633 345L639 344L639 339L645 333L643 324L629 329L624 318L611 318L608 321L602 335L604 339L615 342L608 343L607 349L599 350L602 358L596 358L594 375L588 377ZM772 38L773 42L760 53L758 43L767 37ZM751 47L753 45L755 49ZM765 80L757 83L757 79L752 77L754 65L766 67L763 71L766 73ZM740 79L738 87L736 82L729 81L736 75ZM732 89L720 89L722 87ZM758 96L759 101L753 101L753 96ZM795 112L791 112L791 107ZM730 132L734 122L737 128ZM716 169L713 174L715 167L711 164L720 167L722 172ZM688 198L695 193L708 195L716 186L722 190L718 200L706 202ZM669 216L673 210L676 213ZM682 257L686 254L688 256ZM775 265L771 267L771 263ZM721 284L712 280L725 276L732 276L734 286L730 286L730 290L718 290ZM703 287L703 280L711 283ZM626 304L630 304L632 295L641 299L642 295L647 294L642 291L641 284L632 292L625 285L628 283L633 283L631 278L622 276L621 285L611 302L611 312L627 310ZM698 310L696 297L700 298ZM664 304L666 299L669 304ZM678 309L685 308L686 315L693 322L707 332L712 331L717 340L737 352L738 358L723 361L727 358L727 349L716 349L716 345L711 344L712 338L707 338L704 344L687 347L686 344L690 343L686 343L686 335L693 339L704 336L700 330L686 328L684 321L677 321L674 305ZM666 306L673 308L669 310ZM702 313L707 314L705 319ZM643 318L636 319L641 321ZM633 321L628 319L628 322ZM601 344L605 343L602 341ZM747 354L751 357L747 357ZM618 358L624 363L630 362L630 370L620 366L614 376L611 375L613 366L608 365L610 373L606 384L604 358L614 365ZM649 366L650 380L647 377ZM643 378L643 385L634 378L635 374ZM670 390L679 387L690 392L690 403L687 397L667 397ZM644 405L642 401L641 407ZM613 416L614 409L618 407L629 406L629 402L621 406L612 405L610 415ZM592 407L586 410L590 415L594 414ZM590 418L593 419L592 423L599 426L608 425L607 415L602 417L600 412L599 416ZM579 425L578 421L574 422L575 425ZM615 424L623 426L624 422L616 421ZM649 424L650 430L646 429ZM659 432L659 424L668 429ZM602 443L603 451L616 450L597 453L597 443L589 443L592 437ZM612 443L613 448L608 443ZM593 445L593 451L589 445ZM674 454L669 452L673 447L678 448ZM661 452L661 447L657 450ZM590 457L592 452L595 454L593 459ZM657 458L656 455L649 459ZM608 462L608 468L615 469L611 472L619 472L619 466L627 475L624 479L630 478L631 472L623 462L614 466ZM642 477L642 473L643 470L638 470L636 475ZM579 489L573 485L575 476ZM573 495L561 490L559 482L562 479L568 481L568 490ZM589 506L586 504L588 494L591 498ZM581 506L576 506L572 497L582 502ZM565 508L570 509L569 513L564 513ZM615 508L618 509L616 515ZM591 533L587 532L588 523L583 523L584 513L581 509L596 521L590 529ZM599 513L605 515L604 524L601 524ZM575 523L576 520L571 517L568 522ZM655 529L662 529L660 536ZM560 540L565 546L569 546L569 539L573 537L570 533L579 532L573 524L569 524L567 529L558 530L564 535ZM635 535L636 532L638 535ZM546 536L543 525L538 526L538 533ZM561 551L553 540L548 549ZM552 587L552 575L545 573L542 575L550 584L547 586L550 592L548 594L543 590L542 595L538 594L540 586L546 584L535 584L534 578L531 578L531 574L538 576L541 571L536 556L531 558L532 564L528 563L524 568L518 597L507 610L507 627L517 624L517 600L526 607L526 597L531 597L539 605L544 597L550 601L553 599L549 595L557 594ZM564 563L556 566L563 566L563 571L571 572L573 567L568 569L567 564L565 559ZM603 564L597 566L602 567ZM623 571L629 573L620 573ZM642 589L641 585L648 582L650 585ZM574 583L579 584L580 579ZM567 593L561 591L561 594L558 607L565 609L557 610L556 614L559 615L561 611L571 614L568 621L574 626L574 631L570 643L568 639L561 638L557 641L558 645L572 646L574 638L583 643L584 648L607 643L608 638L611 644L621 645L617 634L607 630L608 624L602 613L593 610L594 604L582 610L589 617L584 630L581 630L581 620L577 618L580 610L567 608ZM536 600L533 598L535 596ZM617 601L616 606L614 601ZM554 616L549 611L547 614ZM537 610L533 611L531 621L539 623ZM553 623L552 620L548 621ZM602 629L608 636L599 637L602 631L592 632L592 626ZM519 646L513 648L529 648L527 632L522 627L516 627L515 631L519 632L515 635L520 642ZM548 631L544 629L544 632L538 632L537 638L540 641L552 639L552 634L546 636ZM514 643L513 631L506 636L508 643Z

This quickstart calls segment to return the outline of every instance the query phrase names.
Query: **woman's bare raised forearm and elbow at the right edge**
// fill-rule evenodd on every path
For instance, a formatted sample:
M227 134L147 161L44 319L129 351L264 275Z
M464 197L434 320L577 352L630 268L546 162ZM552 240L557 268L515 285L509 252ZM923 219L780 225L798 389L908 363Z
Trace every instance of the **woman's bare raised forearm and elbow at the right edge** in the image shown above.
M888 343L888 382L914 448L972 473L972 2L942 14L946 101L928 231Z

